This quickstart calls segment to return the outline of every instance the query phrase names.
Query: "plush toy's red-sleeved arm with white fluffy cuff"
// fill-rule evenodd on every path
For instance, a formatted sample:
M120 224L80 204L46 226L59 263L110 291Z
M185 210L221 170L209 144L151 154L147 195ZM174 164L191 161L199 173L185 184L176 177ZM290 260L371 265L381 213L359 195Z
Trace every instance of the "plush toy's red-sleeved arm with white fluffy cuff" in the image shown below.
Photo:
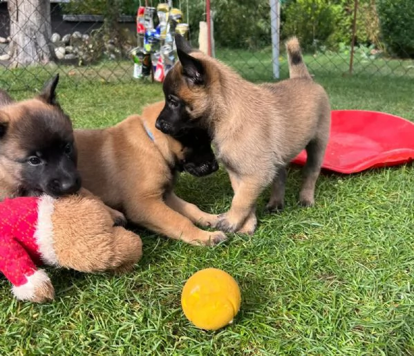
M14 236L0 237L0 271L12 283L17 299L31 299L35 290L50 283L43 270L37 270L29 254Z

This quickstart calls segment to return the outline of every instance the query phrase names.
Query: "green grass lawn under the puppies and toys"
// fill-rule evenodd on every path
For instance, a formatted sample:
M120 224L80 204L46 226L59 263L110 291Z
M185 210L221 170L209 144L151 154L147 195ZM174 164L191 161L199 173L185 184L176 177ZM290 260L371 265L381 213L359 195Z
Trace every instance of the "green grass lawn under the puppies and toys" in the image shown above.
M316 79L333 109L414 121L413 79ZM107 126L162 99L160 84L66 80L59 99L76 127ZM2 279L0 355L414 355L413 165L323 174L310 209L297 205L299 178L291 169L282 214L264 214L263 194L254 236L204 248L140 230L144 257L133 273L48 269L57 298L42 306L13 299ZM215 213L232 198L223 170L183 174L177 192ZM191 326L180 309L185 281L207 267L232 274L243 296L234 324L217 332Z

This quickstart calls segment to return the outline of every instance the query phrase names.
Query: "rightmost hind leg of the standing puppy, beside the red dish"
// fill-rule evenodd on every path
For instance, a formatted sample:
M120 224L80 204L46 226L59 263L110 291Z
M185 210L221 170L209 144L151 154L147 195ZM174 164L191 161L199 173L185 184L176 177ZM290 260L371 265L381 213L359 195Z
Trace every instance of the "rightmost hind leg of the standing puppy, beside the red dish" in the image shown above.
M306 146L308 159L302 169L303 181L299 193L299 203L303 207L311 207L314 205L314 189L319 173L321 172L327 141L327 139L315 138Z

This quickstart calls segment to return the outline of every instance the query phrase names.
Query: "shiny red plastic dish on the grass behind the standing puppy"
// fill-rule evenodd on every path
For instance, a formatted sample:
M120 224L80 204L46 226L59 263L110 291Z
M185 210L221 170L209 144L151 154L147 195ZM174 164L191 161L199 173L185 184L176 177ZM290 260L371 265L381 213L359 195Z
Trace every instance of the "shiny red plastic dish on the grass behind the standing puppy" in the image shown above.
M377 111L332 110L322 169L350 174L414 160L414 123ZM306 162L302 151L292 161Z

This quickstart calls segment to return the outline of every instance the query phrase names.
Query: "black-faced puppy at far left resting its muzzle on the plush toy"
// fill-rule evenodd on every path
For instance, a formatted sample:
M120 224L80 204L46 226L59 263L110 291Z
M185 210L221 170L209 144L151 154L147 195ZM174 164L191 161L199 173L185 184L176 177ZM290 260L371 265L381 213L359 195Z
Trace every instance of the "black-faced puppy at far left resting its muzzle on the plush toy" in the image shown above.
M72 121L56 100L59 75L39 95L21 102L0 91L0 200L47 194L57 198L82 189ZM107 207L115 225L123 214Z

